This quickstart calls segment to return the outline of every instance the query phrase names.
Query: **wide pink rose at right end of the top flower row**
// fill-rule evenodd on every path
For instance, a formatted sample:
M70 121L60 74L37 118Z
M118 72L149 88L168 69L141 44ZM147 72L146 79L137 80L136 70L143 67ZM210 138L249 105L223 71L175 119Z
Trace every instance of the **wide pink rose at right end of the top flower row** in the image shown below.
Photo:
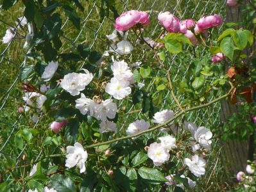
M219 15L216 15L216 14L203 16L197 22L198 28L201 28L201 29L209 29L209 28L220 26L221 24L222 24L222 19L221 17L219 17Z

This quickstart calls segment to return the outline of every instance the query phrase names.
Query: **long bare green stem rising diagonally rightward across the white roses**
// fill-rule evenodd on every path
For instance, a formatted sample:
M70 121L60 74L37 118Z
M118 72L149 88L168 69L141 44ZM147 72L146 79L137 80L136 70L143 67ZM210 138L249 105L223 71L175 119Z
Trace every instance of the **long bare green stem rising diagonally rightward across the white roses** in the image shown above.
M157 129L160 129L160 127L164 127L164 126L168 125L169 123L173 122L173 120L175 120L176 118L182 116L183 114L185 114L189 111L194 111L196 109L201 109L201 108L207 108L211 104L214 104L214 103L218 102L221 99L225 99L226 97L228 97L233 92L233 90L235 88L232 83L230 83L230 86L231 86L230 90L225 95L222 95L221 97L218 97L217 99L214 99L214 100L212 100L212 101L210 101L206 104L201 104L200 106L195 106L195 107L192 107L192 108L184 109L184 110L176 113L175 116L173 116L173 118L171 118L170 120L168 120L164 124L160 124L160 125L157 125L155 127L151 127L150 129L147 129L145 131L142 131L142 132L139 132L137 134L130 135L130 136L123 136L121 138L116 138L114 140L109 140L109 141L105 141L105 142L101 142L101 143L95 143L95 144L92 144L92 145L88 145L88 146L85 146L85 148L92 148L92 147L98 147L98 146L101 146L101 145L108 145L110 143L114 143L114 142L121 141L121 140L127 140L127 139L130 139L130 138L135 138L135 137L141 136L142 134L145 134L147 132L151 132L151 131L155 131Z

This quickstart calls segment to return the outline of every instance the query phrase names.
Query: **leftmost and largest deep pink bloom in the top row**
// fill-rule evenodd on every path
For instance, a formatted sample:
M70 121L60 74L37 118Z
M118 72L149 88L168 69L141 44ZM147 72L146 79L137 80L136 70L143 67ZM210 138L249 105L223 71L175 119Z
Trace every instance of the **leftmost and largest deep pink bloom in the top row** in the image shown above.
M147 26L149 24L148 13L131 10L124 12L115 19L115 29L118 31L127 31L138 23Z

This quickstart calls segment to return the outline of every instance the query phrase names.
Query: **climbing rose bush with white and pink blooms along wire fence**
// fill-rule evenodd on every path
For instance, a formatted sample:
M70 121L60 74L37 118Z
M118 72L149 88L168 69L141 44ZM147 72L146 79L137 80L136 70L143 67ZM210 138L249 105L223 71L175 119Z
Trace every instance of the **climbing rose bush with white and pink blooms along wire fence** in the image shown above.
M8 9L16 1L3 2L3 8ZM105 37L104 53L92 51L85 44L76 45L73 52L61 52L60 12L64 10L79 29L75 6L81 11L83 6L79 1L73 1L73 5L47 2L24 1L24 15L17 19L17 28L6 29L3 36L3 44L24 38L28 61L21 73L24 102L18 112L29 125L38 127L19 130L15 134L15 147L21 151L26 144L35 150L42 149L42 154L39 158L33 152L27 154L31 164L24 168L22 179L26 182L20 182L16 175L12 182L4 180L0 189L183 191L195 188L209 172L207 159L214 134L209 127L186 120L186 113L226 97L233 103L238 99L250 102L243 90L255 89L255 68L243 68L246 61L242 52L254 45L252 20L249 18L250 23L244 28L227 28L216 38L212 34L223 26L218 14L180 20L168 11L159 12L155 19L162 28L158 26L157 35L150 36L146 31L150 26L149 16L150 19L155 16L147 11L130 10L115 17L113 32ZM238 1L227 4L239 6ZM37 14L27 11L31 6ZM108 8L113 11L114 6L108 4ZM207 52L198 58L196 47ZM178 93L191 99L184 103L176 96L172 82L172 74L176 72L170 72L173 69L166 58L186 52L193 54L195 66L189 68L194 77L185 76L179 82ZM137 59L131 58L131 54ZM138 60L142 54L148 63ZM248 56L248 61L252 57ZM84 64L78 67L75 65L78 61ZM150 75L157 70L155 87ZM244 77L244 71L249 79ZM166 90L175 104L167 102L162 106L157 95ZM216 95L214 100L210 99L210 93ZM122 103L126 108L132 104L139 106L142 113L126 120L128 111L121 108ZM34 145L38 139L40 146ZM252 170L248 168L248 173ZM244 182L245 177L244 173L237 174L239 182Z

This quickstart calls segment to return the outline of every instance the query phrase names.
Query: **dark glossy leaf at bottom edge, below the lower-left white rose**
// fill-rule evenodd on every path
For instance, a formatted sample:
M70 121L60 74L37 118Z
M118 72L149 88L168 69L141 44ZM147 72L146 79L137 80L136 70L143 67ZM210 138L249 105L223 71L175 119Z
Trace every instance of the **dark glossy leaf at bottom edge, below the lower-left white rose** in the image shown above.
M53 188L55 188L56 191L62 191L62 192L74 192L76 191L76 186L74 185L73 180L71 180L66 175L53 175L53 177L50 177L51 184L53 185Z

